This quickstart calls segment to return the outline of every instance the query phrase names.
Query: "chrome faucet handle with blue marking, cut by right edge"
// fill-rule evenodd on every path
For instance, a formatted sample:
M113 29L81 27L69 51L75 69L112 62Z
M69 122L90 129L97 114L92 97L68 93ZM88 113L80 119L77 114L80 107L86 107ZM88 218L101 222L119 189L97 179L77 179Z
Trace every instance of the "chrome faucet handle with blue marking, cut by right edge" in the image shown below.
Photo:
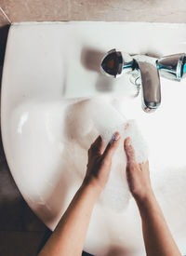
M180 81L186 77L186 54L178 53L164 56L156 62L161 76L170 80Z

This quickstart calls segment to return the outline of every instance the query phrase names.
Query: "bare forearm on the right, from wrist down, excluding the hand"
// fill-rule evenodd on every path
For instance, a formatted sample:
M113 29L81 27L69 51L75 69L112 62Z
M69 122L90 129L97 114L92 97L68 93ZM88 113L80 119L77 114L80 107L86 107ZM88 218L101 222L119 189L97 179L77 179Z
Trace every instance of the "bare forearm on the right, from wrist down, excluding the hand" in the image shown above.
M169 231L163 212L153 191L143 200L137 200L142 221L145 249L148 256L180 256Z

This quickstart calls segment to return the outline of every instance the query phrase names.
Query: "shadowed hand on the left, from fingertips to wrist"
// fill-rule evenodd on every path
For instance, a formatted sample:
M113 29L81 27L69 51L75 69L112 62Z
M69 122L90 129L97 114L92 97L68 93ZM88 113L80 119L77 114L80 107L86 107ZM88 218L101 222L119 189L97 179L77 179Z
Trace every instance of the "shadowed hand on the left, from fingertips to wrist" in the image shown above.
M119 140L120 135L118 132L115 132L105 149L100 136L94 141L88 150L88 162L84 183L93 185L101 192L109 179L112 157L119 145Z

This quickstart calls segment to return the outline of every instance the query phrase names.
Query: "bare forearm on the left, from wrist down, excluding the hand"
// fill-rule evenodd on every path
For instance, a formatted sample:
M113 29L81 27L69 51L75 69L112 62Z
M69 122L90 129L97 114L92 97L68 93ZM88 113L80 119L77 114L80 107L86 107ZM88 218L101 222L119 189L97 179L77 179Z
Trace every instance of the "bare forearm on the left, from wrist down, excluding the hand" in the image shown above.
M82 254L88 223L99 194L90 185L80 187L39 256Z

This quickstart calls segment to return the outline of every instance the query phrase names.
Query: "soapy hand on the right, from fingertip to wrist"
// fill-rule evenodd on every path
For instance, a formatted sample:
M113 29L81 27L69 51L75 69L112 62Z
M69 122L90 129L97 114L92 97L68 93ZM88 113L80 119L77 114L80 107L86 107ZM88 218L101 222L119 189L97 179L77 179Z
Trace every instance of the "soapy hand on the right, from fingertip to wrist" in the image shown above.
M137 163L130 138L124 142L126 151L126 178L130 192L135 199L143 200L153 193L150 181L149 162Z

